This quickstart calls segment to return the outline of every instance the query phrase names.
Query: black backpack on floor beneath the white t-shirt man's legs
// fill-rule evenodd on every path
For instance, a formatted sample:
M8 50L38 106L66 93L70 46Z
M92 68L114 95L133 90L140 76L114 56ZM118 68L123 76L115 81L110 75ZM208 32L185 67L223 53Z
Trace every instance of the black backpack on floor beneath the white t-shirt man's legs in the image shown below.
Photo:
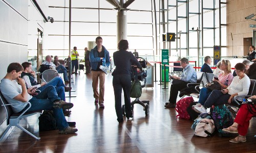
M56 130L56 120L53 111L45 110L39 117L39 131Z

